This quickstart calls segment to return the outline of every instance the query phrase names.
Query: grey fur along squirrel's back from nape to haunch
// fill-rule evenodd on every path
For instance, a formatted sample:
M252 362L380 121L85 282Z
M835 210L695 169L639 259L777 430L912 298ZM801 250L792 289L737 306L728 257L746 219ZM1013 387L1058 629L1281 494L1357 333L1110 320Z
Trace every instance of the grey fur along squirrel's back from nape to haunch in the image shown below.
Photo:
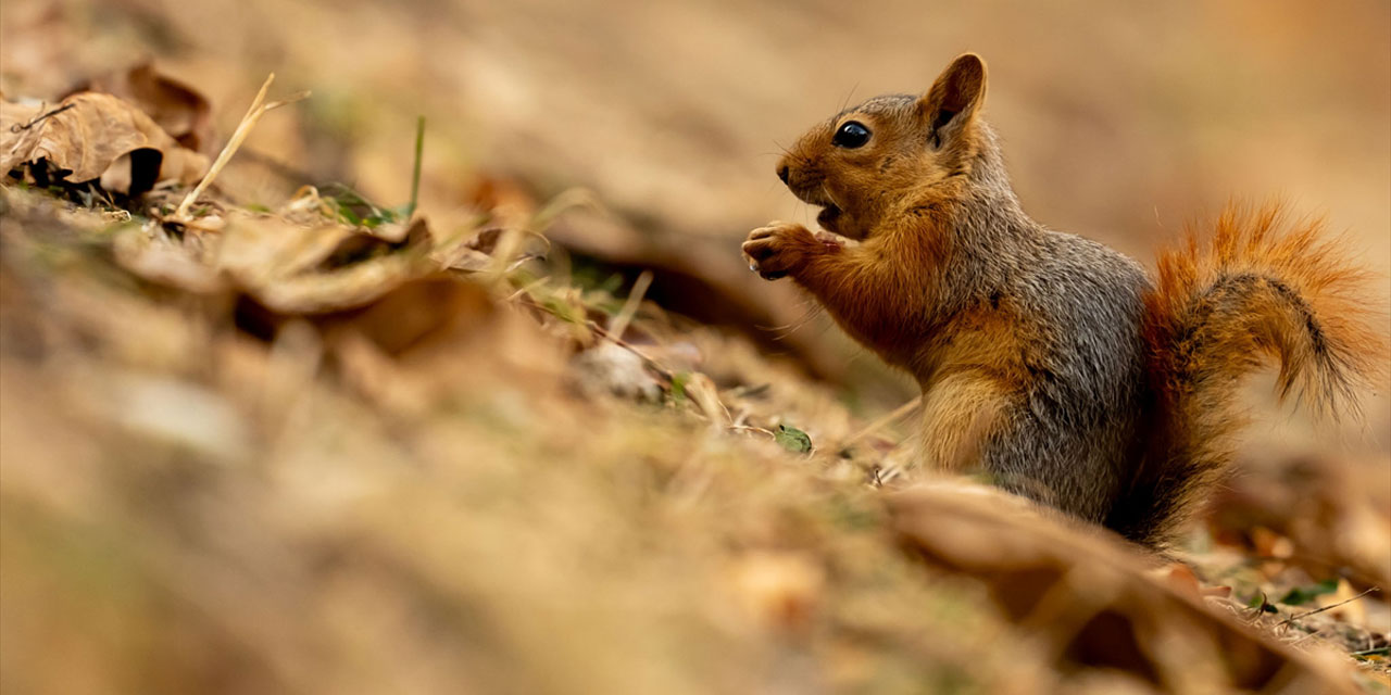
M985 125L985 124L982 124ZM1143 293L1150 284L1129 257L1034 222L1010 188L985 126L972 197L956 238L972 261L956 306L1006 297L1027 321L1031 379L985 442L983 468L1006 489L1088 520L1102 520L1139 464L1146 410ZM1008 246L1007 253L1002 253ZM964 278L963 278L964 279Z

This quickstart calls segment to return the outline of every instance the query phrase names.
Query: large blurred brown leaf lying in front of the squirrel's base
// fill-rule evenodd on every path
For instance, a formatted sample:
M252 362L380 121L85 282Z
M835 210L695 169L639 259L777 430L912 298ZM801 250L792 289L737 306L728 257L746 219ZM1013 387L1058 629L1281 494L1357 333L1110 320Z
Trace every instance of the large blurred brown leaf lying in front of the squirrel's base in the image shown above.
M978 485L892 498L893 525L924 560L979 577L1060 669L1117 669L1161 692L1353 692L1327 652L1288 648L1207 607L1184 573L1118 538Z

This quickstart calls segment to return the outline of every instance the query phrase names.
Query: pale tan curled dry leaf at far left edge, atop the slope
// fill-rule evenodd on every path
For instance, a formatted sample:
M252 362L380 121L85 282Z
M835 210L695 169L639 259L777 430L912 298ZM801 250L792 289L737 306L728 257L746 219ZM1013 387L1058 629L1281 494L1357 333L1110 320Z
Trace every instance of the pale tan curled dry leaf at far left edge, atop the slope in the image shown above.
M179 146L139 108L111 95L82 92L56 107L0 103L0 171L40 160L72 183L139 195L159 181L192 183L207 157Z

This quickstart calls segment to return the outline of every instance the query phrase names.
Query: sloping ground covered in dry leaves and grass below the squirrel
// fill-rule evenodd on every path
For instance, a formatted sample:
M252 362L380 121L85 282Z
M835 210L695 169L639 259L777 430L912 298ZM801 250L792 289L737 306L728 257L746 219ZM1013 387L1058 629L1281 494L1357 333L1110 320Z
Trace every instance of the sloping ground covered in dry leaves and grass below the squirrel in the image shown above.
M912 403L858 423L645 299L651 275L580 286L547 231L613 220L590 193L431 225L420 121L403 206L305 186L253 210L214 179L289 101L270 79L211 165L195 90L147 65L90 85L111 93L7 101L0 132L8 687L1385 682L1385 635L1335 620L1369 600L1346 577L1289 553L1161 564L924 485L890 432Z

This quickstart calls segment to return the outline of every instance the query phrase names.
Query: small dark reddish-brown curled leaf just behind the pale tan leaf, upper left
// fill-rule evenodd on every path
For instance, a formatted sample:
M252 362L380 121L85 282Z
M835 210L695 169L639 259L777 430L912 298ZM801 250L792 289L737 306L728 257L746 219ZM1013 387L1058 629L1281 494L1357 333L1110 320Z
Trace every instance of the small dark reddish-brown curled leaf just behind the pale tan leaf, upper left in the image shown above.
M179 145L207 154L213 145L213 107L193 88L161 75L149 61L99 75L70 92L102 92L139 107Z

